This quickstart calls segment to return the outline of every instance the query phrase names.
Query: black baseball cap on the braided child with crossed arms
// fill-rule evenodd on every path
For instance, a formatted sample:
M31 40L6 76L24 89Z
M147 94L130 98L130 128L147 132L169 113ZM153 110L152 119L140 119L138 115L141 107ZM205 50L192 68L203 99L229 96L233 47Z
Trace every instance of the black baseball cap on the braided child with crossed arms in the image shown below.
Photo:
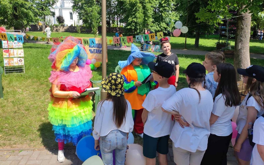
M205 67L200 63L191 63L188 67L183 70L183 73L192 78L202 78L205 77Z

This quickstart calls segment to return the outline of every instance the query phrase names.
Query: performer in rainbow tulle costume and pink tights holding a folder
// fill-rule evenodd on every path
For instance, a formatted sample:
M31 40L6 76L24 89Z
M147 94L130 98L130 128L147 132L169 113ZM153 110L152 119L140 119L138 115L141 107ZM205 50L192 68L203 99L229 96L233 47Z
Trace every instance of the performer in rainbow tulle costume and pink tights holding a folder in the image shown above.
M65 143L77 145L83 136L92 133L93 103L89 96L77 98L79 93L92 86L92 71L86 65L87 53L80 43L78 39L68 37L59 45L53 45L48 57L53 69L49 78L52 85L48 111L59 146L59 162L65 160Z

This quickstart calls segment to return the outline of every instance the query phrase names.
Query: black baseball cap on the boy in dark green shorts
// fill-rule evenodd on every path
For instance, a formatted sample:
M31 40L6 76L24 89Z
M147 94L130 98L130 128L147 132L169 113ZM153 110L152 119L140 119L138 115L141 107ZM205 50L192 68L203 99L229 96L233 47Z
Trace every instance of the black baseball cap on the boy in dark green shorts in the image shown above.
M165 61L160 61L157 63L150 62L148 63L148 67L157 72L162 77L166 78L170 78L174 72L172 65Z

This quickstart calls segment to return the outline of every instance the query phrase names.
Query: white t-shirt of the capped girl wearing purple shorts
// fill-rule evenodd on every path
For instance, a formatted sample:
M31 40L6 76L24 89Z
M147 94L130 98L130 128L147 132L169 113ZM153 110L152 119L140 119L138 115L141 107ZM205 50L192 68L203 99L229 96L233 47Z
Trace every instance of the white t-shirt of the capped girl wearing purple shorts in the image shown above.
M257 101L254 99L253 96L249 97L247 101L248 95L249 93L247 94L247 96L244 98L241 105L239 106L239 113L237 117L237 128L236 128L239 134L241 134L244 126L248 124L247 107L255 107L255 109L258 111L257 117L260 117L264 113L264 111L261 110L261 106L258 105ZM247 107L246 107L246 102L247 102Z

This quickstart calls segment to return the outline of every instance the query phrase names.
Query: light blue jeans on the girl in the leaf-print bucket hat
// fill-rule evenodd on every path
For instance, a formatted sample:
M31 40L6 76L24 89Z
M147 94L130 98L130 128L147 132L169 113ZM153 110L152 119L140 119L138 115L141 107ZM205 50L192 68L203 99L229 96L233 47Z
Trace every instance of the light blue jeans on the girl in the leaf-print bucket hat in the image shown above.
M115 150L115 164L124 165L127 144L126 133L120 130L112 130L108 135L101 136L100 149L103 163L113 165L113 151Z

